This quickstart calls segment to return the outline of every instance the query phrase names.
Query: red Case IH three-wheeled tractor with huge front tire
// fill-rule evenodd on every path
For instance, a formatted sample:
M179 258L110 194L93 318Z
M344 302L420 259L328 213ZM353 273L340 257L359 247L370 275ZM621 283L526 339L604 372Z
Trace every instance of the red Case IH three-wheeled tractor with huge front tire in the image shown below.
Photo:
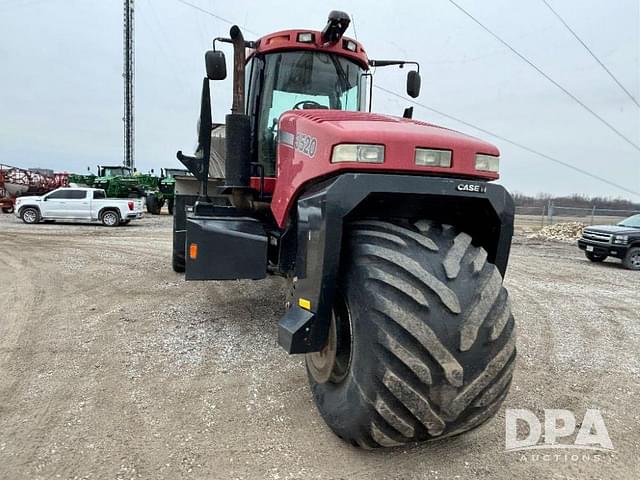
M331 12L322 31L246 41L237 26L205 55L199 145L178 158L173 267L187 280L290 285L280 345L304 354L331 429L366 448L443 438L500 407L515 365L502 279L513 201L498 149L370 113L371 60ZM212 125L209 80L233 107ZM417 64L416 64L417 65ZM418 67L419 68L419 67ZM420 88L418 71L407 93Z

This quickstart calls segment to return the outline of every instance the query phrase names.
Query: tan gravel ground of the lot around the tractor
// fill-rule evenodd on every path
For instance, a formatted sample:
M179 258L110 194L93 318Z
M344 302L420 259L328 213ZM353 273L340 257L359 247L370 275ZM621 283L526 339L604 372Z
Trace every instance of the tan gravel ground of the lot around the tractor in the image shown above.
M302 359L277 346L283 283L185 283L170 217L0 215L0 248L2 478L640 478L640 273L572 245L516 239L520 356L496 418L380 451L328 430ZM505 453L505 408L598 408L615 452Z

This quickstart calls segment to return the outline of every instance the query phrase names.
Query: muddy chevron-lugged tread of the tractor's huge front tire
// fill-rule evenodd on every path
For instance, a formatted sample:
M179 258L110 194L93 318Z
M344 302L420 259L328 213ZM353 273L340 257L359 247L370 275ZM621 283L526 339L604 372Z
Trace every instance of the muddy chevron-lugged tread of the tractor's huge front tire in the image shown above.
M377 339L375 378L356 381L368 427L350 440L396 446L491 418L511 385L516 347L509 297L487 252L428 220L363 220L349 233L348 261Z

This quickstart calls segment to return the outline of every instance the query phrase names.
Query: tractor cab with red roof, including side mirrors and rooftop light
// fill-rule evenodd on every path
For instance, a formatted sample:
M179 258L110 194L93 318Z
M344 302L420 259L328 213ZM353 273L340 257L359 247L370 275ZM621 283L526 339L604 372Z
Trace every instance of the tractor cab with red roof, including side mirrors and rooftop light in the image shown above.
M371 66L418 66L405 60L370 60L358 41L343 36L349 23L348 15L334 11L322 31L284 30L245 41L235 27L240 38L214 40L214 50L205 55L209 80L226 77L225 55L216 43L234 44L232 112L248 118L247 153L256 176L277 176L278 129L285 112L369 111ZM418 70L407 75L407 93L414 98L420 91Z

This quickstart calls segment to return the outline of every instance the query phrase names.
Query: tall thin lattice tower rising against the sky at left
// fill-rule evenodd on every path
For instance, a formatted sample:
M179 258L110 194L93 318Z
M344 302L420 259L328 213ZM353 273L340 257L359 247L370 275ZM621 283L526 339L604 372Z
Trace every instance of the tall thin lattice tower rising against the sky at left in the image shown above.
M122 32L124 79L124 166L131 171L135 168L135 120L134 120L134 79L135 79L135 43L134 43L134 0L124 0L124 20Z

